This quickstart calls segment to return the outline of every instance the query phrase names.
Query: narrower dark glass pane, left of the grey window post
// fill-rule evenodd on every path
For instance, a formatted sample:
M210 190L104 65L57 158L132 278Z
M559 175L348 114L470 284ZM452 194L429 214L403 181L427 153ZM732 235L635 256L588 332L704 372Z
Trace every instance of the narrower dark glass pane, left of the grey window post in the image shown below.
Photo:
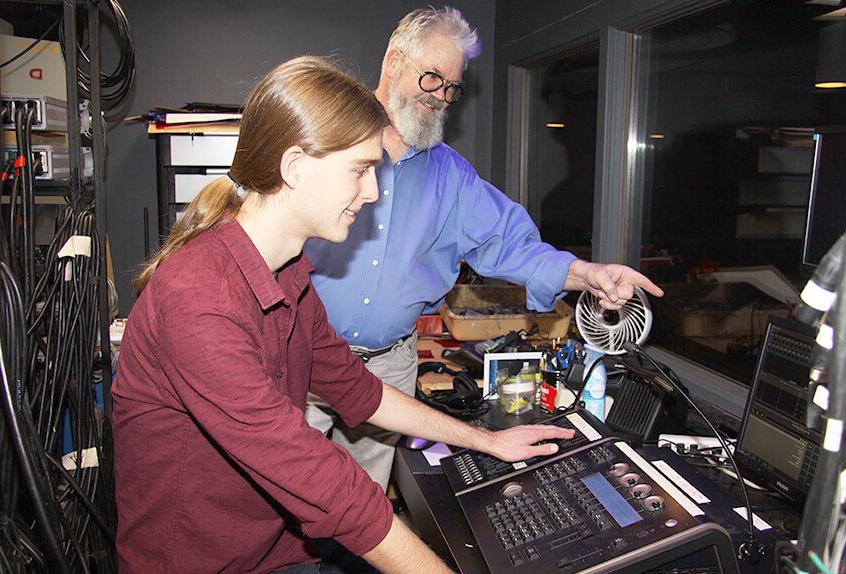
M538 72L529 163L529 212L544 241L590 259L599 48L568 53Z

